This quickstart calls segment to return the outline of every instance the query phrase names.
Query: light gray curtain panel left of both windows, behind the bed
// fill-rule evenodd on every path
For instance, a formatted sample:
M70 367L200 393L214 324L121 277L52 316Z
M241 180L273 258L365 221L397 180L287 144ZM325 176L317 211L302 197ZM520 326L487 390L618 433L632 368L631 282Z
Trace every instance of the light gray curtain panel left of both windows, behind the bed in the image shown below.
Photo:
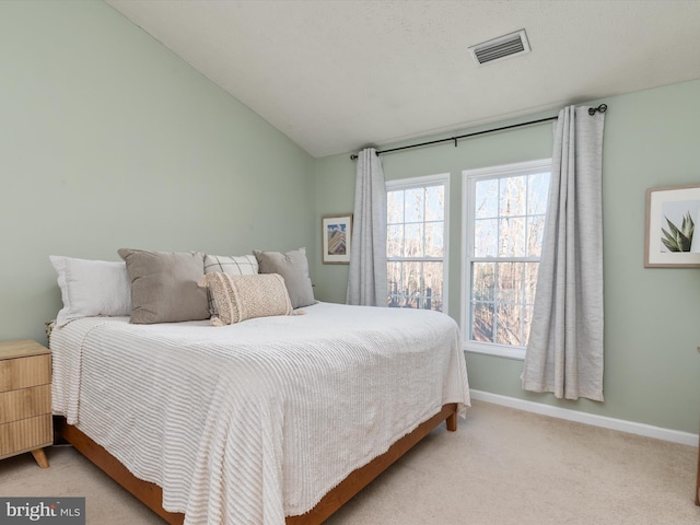
M376 150L358 154L348 304L386 306L386 186Z

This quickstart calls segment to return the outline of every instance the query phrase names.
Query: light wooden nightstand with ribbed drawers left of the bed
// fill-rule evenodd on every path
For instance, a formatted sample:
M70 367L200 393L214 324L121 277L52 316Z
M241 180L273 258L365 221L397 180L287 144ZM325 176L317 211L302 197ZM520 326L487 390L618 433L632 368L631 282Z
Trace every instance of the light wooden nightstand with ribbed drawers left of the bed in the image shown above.
M49 350L28 340L0 342L0 459L31 452L48 467L52 427Z

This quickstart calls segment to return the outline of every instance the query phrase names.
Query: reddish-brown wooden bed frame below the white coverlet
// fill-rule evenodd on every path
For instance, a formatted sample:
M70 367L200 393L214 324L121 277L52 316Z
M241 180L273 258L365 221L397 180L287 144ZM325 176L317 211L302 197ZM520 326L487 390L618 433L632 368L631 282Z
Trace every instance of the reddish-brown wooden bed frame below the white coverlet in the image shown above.
M405 435L394 443L388 451L374 458L364 467L350 472L335 489L328 492L316 506L300 516L287 516L287 525L319 525L334 512L347 503L354 494L366 487L374 478L386 470L394 462L411 450L418 442L428 435L443 421L447 430L457 430L457 405L448 404L429 420L422 422L410 434ZM127 468L112 456L105 448L88 438L75 427L66 423L65 418L59 418L56 424L57 440L63 439L75 447L88 459L109 475L117 483L141 500L149 509L160 515L171 525L182 525L185 515L167 512L163 509L162 489L149 481L143 481L133 476Z

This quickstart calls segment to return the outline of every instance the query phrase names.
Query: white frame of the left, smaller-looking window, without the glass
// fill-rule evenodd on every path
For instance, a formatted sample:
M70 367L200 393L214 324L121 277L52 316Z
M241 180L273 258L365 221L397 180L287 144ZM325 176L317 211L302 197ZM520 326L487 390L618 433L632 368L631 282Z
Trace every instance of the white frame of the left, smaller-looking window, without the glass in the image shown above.
M450 173L439 173L435 175L423 175L419 177L410 177L410 178L399 178L395 180L387 180L384 184L385 191L388 197L389 191L397 190L406 190L406 189L415 189L415 188L425 188L430 186L443 186L444 187L444 205L445 208L443 210L443 256L442 257L386 257L387 266L388 262L393 260L400 261L442 261L442 303L443 308L442 313L447 314L450 306L450 292L448 292L448 282L450 282ZM388 210L387 210L388 215ZM424 223L424 218L423 218ZM387 230L388 230L388 217L387 217ZM388 233L388 232L387 232ZM386 298L389 298L388 282L386 290Z

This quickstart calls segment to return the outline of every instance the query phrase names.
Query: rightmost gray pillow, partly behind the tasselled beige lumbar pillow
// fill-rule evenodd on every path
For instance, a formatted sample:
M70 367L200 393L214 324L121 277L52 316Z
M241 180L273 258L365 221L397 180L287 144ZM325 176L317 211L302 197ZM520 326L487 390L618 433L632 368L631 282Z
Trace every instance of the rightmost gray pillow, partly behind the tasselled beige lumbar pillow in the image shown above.
M284 279L292 308L301 308L316 303L314 289L308 277L306 248L299 248L285 254L279 252L261 252L253 254L260 265L260 273L279 273Z

